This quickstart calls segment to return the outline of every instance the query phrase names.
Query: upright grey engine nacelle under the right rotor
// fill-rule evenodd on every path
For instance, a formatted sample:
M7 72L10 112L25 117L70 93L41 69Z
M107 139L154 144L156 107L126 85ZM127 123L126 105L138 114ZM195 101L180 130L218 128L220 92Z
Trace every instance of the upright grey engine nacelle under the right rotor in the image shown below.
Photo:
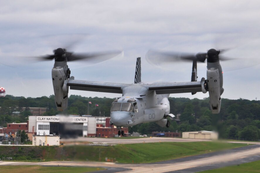
M210 96L210 109L213 114L220 112L222 88L220 88L220 76L218 68L207 70L207 90Z

